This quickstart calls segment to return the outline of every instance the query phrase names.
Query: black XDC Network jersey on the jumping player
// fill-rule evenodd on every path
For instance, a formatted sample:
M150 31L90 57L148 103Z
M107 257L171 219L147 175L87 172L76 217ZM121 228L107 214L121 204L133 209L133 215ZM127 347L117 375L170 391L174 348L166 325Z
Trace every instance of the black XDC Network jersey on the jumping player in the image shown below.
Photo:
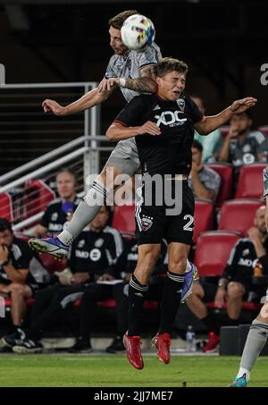
M115 119L128 127L152 121L161 135L138 135L136 139L142 172L154 175L189 173L194 123L203 118L197 105L187 96L176 101L157 95L139 95L126 105Z

